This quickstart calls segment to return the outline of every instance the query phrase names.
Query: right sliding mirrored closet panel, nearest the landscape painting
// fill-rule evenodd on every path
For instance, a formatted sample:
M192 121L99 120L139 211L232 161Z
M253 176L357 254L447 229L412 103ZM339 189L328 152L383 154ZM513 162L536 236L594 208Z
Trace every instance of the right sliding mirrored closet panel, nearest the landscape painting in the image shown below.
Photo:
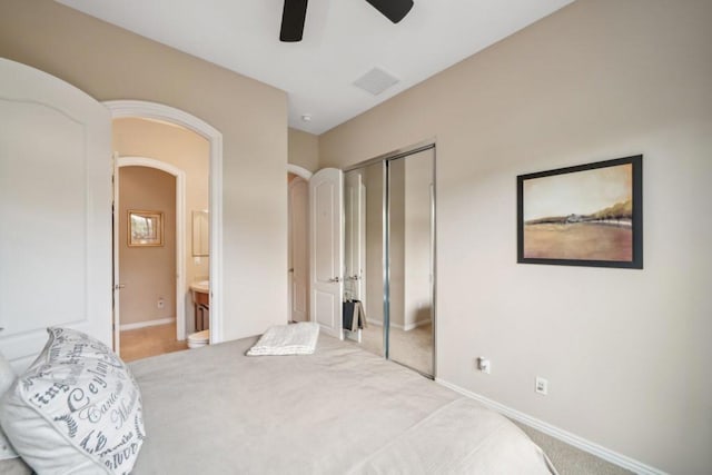
M434 374L435 149L388 161L387 356Z

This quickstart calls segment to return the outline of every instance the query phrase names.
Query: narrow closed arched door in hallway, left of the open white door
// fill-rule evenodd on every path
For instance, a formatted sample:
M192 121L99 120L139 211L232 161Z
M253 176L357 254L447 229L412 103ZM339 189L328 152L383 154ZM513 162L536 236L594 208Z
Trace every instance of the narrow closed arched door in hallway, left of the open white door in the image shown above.
M289 309L294 321L308 320L309 188L303 178L289 184Z

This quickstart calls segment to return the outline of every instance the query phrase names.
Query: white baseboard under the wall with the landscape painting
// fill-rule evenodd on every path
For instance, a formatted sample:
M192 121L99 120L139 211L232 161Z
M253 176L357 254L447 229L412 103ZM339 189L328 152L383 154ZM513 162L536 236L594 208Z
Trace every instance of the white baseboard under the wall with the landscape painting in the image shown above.
M634 472L636 474L641 474L641 475L665 475L665 472L663 471L651 467L650 465L645 465L642 462L635 461L631 457L626 457L625 455L619 454L617 452L613 452L591 441L586 441L583 437L580 437L575 434L561 429L556 426L547 424L543 420L540 420L527 414L521 413L511 407L507 407L504 404L500 404L495 400L492 400L478 394L472 393L467 389L464 389L452 383L447 383L443 379L435 378L435 380L438 384L455 390L456 393L459 393L464 396L471 397L482 403L484 406L511 419L517 420L522 424L533 427L540 432L543 432L546 435L557 438L558 441L565 442L566 444L572 445L576 448L580 448L584 452L593 454L596 457L603 458L604 461L611 462L612 464L615 464L620 467L627 468L629 471Z

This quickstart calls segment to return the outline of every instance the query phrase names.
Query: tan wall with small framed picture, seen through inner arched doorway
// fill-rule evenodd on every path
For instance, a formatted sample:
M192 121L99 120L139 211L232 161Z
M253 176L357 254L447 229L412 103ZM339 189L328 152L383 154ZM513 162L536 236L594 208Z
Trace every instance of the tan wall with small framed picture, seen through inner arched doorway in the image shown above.
M176 178L146 167L119 169L121 325L176 317ZM164 214L164 245L128 246L128 211ZM158 308L158 300L164 308Z

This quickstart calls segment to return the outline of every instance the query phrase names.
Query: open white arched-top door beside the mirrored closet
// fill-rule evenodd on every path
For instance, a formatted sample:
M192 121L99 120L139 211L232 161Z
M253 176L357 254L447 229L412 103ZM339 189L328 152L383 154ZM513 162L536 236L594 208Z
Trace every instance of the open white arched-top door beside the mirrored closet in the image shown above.
M312 320L339 339L344 294L344 178L324 168L309 180Z

